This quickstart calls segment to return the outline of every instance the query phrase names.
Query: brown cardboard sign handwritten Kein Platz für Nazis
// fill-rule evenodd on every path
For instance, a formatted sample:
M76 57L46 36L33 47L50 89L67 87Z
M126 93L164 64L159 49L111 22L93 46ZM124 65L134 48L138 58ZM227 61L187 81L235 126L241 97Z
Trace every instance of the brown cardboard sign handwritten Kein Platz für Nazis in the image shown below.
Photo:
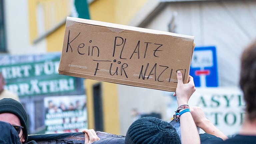
M67 17L59 74L175 91L188 82L194 37Z

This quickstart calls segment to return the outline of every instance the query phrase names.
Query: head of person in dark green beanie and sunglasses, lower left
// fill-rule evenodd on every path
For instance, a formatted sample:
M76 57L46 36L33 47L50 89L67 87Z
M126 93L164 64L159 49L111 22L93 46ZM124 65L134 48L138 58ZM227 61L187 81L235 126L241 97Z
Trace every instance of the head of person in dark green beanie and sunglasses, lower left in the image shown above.
M22 104L11 98L0 100L0 121L10 123L19 134L20 142L28 139L28 114Z

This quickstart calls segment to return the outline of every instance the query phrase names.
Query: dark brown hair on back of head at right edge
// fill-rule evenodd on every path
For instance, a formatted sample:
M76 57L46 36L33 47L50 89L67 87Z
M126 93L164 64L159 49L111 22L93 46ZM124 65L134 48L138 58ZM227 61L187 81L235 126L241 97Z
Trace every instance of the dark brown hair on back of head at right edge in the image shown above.
M241 57L240 87L247 103L248 119L256 118L256 41L247 47Z

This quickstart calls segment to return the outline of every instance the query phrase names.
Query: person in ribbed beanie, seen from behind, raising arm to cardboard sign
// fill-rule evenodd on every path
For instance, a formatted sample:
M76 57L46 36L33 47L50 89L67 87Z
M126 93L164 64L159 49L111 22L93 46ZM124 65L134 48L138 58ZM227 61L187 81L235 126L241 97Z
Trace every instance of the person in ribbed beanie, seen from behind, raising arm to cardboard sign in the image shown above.
M189 82L187 84L183 84L182 74L180 71L178 71L177 79L178 79L178 84L177 84L177 89L174 96L177 97L178 106L180 107L188 104L189 98L195 92L196 89L195 89L193 78L191 76L189 76ZM186 112L181 114L183 110ZM189 111L189 108L188 107L182 108L180 109L179 113L181 114L180 125L181 125L182 144L200 144L200 137L198 134L198 130L193 120L193 117ZM156 131L151 133L151 131L154 129ZM163 131L165 133L163 133ZM176 134L177 132L175 131L175 129L167 122L163 122L157 118L141 118L136 120L129 127L126 133L125 142L124 142L124 139L116 139L116 138L110 137L107 139L100 140L98 142L96 141L93 144L180 143L180 138ZM89 139L90 139L90 135L89 135ZM86 144L91 144L91 143L86 143Z

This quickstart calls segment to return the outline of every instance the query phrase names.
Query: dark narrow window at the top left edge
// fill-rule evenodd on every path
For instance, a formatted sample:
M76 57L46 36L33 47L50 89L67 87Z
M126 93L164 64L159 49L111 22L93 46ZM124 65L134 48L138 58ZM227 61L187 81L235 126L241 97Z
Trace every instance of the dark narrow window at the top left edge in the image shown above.
M5 52L4 6L0 0L0 52Z

